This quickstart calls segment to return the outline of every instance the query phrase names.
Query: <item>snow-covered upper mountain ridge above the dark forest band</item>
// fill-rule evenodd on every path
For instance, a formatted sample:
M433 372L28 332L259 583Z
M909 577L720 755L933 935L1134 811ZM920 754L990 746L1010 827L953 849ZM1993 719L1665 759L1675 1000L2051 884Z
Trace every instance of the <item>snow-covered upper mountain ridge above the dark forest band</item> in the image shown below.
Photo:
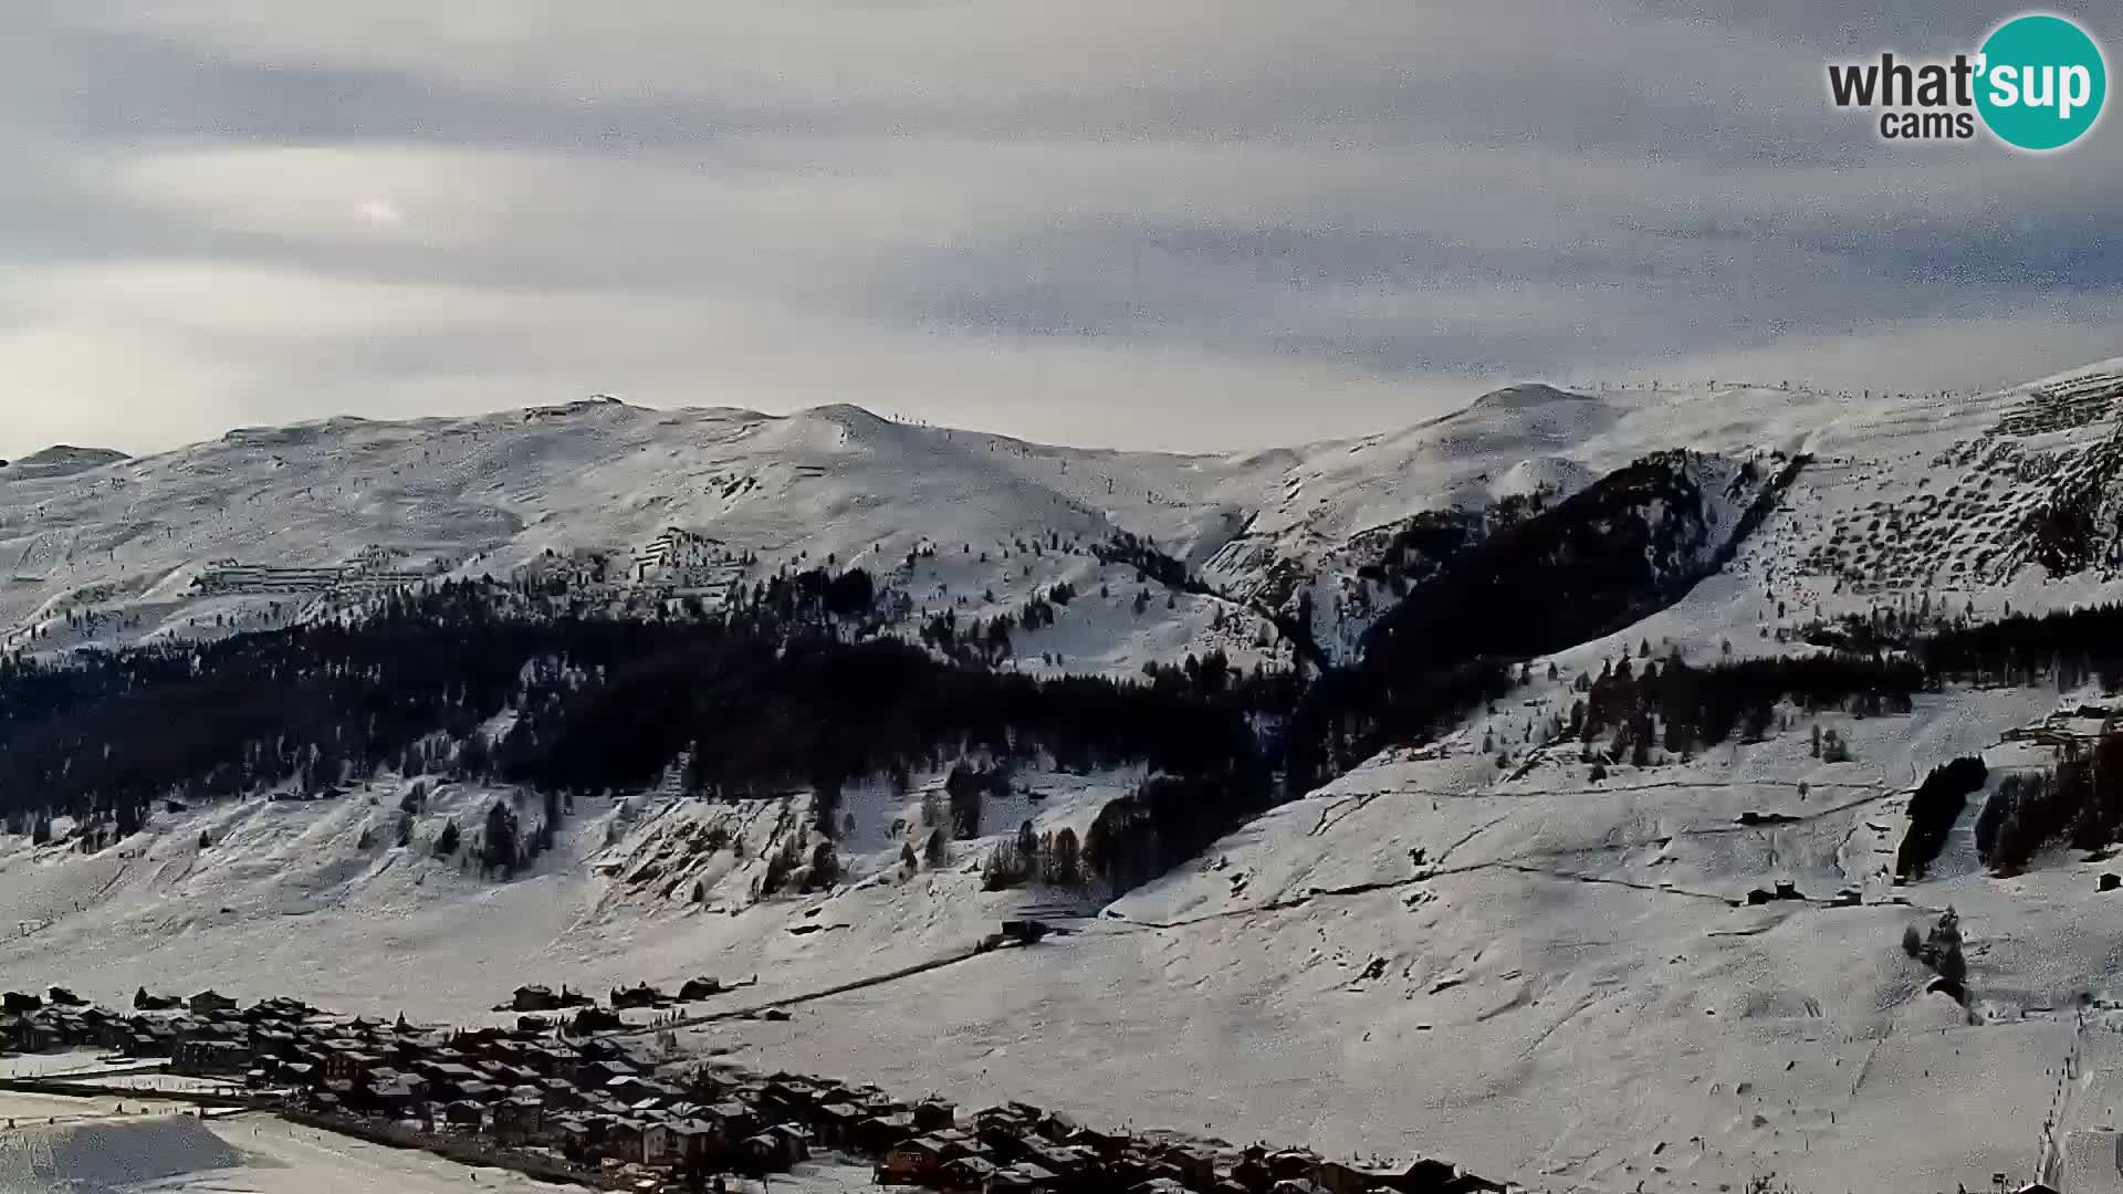
M909 618L945 608L985 618L1057 582L1106 591L1019 644L1025 667L1119 673L1216 646L1240 665L1282 665L1291 648L1261 612L1287 612L1299 586L1321 582L1331 618L1333 593L1361 589L1354 572L1374 559L1352 546L1367 531L1507 495L1567 495L1662 448L1751 459L1839 402L1518 387L1393 436L1233 457L1053 448L853 406L766 416L594 399L242 429L144 459L68 448L0 467L0 642L214 635L314 616L389 582L516 569L715 597L830 561L907 593ZM1168 610L1155 591L1136 614L1146 584L1089 552L1115 533L1155 544L1238 603L1176 595ZM745 552L749 569L732 563ZM1346 646L1357 629L1321 639ZM1042 661L1053 654L1062 661Z

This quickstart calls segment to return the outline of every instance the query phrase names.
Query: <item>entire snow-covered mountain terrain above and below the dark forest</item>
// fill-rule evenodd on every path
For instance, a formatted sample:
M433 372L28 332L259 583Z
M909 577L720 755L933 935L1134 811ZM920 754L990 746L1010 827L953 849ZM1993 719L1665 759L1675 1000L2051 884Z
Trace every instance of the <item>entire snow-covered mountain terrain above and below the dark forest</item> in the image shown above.
M1650 497L1586 506L1633 476ZM851 784L841 882L775 899L754 882L809 822L807 792L580 801L499 882L395 843L401 807L425 843L497 799L537 816L535 795L382 771L327 801L157 807L96 852L0 835L0 988L121 1003L212 986L473 1022L527 982L718 975L745 986L707 1011L794 1001L790 1018L690 1026L692 1052L962 1105L1437 1156L1533 1190L2119 1188L2123 892L2098 890L2085 850L2004 875L1974 841L2002 782L2100 727L2081 716L2100 684L1949 684L1872 716L1783 705L1768 733L1656 761L1594 761L1556 727L1573 682L1618 659L1800 659L1843 616L2123 597L2123 361L1981 395L1526 385L1244 455L609 399L242 429L140 459L55 448L0 467L0 644L64 663L359 618L393 589L482 576L715 605L830 565L870 572L896 603L883 633L909 642L928 614L994 618L1068 584L1008 669L1138 678L1221 650L1316 671L1361 663L1367 631L1459 555L1560 510L1592 523L1556 552L1609 516L1654 525L1633 567L1656 599L1613 601L1613 625L1524 652L1505 697L1119 899L985 890L979 860L1021 822L1087 833L1140 769L1023 769L983 814L991 841L913 873L902 843L945 775ZM1962 756L1985 761L1985 790L1923 877L1896 882L1911 797ZM1777 884L1796 899L1749 901ZM1028 905L1066 905L1076 931L974 950ZM1949 907L1960 999L1902 948ZM197 1162L151 1188L217 1188L172 1175L229 1149L314 1171L314 1190L456 1188L439 1162L227 1132L157 1141ZM331 1183L355 1164L420 1171Z

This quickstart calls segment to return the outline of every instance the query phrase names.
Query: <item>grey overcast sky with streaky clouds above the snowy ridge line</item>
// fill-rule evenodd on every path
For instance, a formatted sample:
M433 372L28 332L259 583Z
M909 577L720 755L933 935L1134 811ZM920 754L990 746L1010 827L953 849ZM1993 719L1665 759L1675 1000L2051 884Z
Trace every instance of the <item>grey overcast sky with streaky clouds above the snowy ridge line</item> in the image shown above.
M6 0L0 457L599 391L1221 448L2123 355L2123 130L1883 144L1824 62L2015 8L1858 6Z

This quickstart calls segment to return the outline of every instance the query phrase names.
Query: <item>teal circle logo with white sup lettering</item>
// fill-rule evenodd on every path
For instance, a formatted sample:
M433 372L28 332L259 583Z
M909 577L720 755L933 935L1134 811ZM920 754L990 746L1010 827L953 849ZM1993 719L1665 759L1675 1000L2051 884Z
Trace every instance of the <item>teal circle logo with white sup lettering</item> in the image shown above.
M2102 115L2108 64L2085 30L2032 13L2013 17L1983 40L1977 110L1998 140L2015 149L2064 149Z

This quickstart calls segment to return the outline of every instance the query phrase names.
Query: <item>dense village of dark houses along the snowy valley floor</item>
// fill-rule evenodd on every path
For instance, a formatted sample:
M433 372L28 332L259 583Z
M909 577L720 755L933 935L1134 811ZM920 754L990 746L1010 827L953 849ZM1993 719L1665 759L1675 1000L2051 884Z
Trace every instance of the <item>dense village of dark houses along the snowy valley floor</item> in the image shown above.
M707 979L698 979L705 988ZM652 988L616 992L645 1001ZM134 996L130 1016L53 988L0 996L0 1045L106 1047L174 1073L242 1084L312 1113L531 1152L614 1188L703 1188L718 1173L779 1173L815 1149L862 1156L885 1186L945 1194L1482 1194L1501 1183L1439 1160L1359 1164L1306 1149L1233 1149L1102 1132L1023 1103L962 1113L875 1086L794 1073L658 1064L611 1035L543 1016L514 1028L420 1028L327 1016L291 999L251 1007L214 992ZM514 1003L569 1007L522 988ZM541 1162L543 1164L543 1162Z

